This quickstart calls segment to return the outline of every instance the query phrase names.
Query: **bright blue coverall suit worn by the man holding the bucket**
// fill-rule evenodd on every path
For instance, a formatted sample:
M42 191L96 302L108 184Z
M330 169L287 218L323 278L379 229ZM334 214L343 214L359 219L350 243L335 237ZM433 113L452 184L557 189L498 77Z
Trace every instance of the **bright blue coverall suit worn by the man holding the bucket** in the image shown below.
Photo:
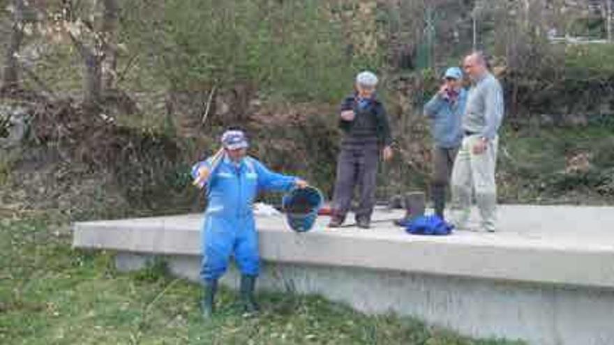
M211 168L211 158L194 165L193 177L203 165ZM200 277L205 282L225 273L233 252L242 275L258 275L260 256L253 201L261 190L290 190L296 181L296 177L276 174L251 157L238 165L225 157L211 171L207 181L209 204L201 233Z

